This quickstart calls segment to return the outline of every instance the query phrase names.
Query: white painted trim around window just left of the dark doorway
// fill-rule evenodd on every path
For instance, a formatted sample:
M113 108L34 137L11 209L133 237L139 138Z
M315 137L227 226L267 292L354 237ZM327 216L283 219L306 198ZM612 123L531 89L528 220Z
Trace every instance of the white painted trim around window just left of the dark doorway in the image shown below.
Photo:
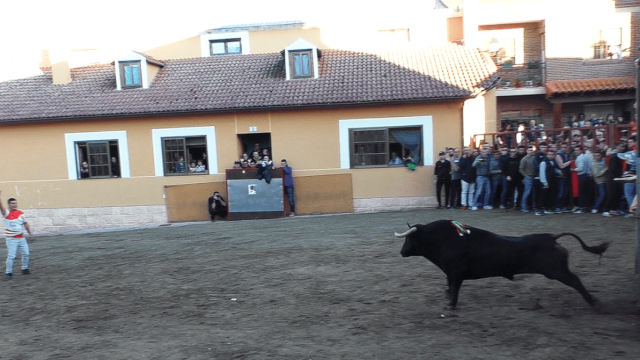
M206 136L207 158L209 159L209 174L218 174L218 148L216 145L216 127L184 127L170 129L153 129L153 166L156 176L164 176L164 162L162 160L162 138L176 136Z

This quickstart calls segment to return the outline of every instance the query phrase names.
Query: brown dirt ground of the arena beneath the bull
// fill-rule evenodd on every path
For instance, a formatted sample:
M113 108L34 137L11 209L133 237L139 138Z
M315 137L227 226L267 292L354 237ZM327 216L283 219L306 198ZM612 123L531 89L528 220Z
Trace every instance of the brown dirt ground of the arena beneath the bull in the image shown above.
M437 219L612 241L600 260L560 239L603 310L541 275L467 281L443 310L444 274L393 237ZM39 237L33 274L0 281L0 359L637 359L634 229L429 209Z

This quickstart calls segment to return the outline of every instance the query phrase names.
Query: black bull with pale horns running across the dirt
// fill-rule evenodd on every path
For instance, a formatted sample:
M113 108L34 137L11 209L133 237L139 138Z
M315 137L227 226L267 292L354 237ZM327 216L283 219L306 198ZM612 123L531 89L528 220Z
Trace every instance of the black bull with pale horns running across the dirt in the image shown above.
M569 235L576 238L582 248L602 255L609 243L587 246L571 233L532 234L510 237L465 227L460 231L450 220L439 220L427 225L413 225L396 237L405 238L403 257L424 256L447 275L449 307L455 309L458 292L464 280L502 276L513 280L516 274L542 274L549 279L576 289L591 306L596 299L584 288L580 279L569 271L569 252L556 239ZM462 234L462 235L461 235Z

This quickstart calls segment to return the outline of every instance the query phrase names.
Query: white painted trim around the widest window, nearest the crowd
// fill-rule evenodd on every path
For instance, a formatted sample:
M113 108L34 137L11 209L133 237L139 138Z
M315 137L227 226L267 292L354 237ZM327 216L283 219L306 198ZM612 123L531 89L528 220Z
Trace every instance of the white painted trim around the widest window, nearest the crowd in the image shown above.
M355 119L340 120L338 122L340 134L340 168L351 168L349 147L349 130L394 126L422 126L422 154L424 165L433 165L433 117L408 116L398 118Z

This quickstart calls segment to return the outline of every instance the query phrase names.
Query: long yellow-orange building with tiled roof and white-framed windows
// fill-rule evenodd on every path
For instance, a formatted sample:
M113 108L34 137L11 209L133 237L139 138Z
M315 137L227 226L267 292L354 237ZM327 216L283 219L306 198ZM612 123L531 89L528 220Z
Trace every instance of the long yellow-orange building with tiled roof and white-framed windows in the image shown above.
M36 233L205 220L255 143L293 166L299 213L431 206L434 153L495 119L495 66L455 44L54 65L0 83L0 187Z

